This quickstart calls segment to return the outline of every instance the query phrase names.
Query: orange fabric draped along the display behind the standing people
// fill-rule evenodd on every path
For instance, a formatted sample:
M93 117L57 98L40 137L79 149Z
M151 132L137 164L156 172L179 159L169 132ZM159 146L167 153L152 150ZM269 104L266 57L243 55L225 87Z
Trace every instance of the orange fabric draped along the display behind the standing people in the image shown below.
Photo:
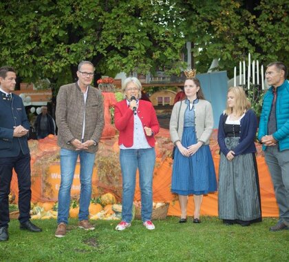
M216 173L219 168L219 147L216 141L217 130L214 131L210 143L213 154ZM39 141L29 141L31 151L31 180L32 180L32 202L56 201L59 188L60 170L59 150L56 137L50 136ZM156 165L153 175L153 201L170 202L169 215L180 216L180 206L175 194L171 194L171 172L173 160L169 156L172 143L169 139L169 130L161 128L156 137ZM100 141L100 150L96 154L96 167L92 181L92 196L98 196L101 192L111 192L121 201L121 173L119 167L118 137ZM268 167L262 156L260 146L257 145L257 165L259 170L259 183L261 192L262 216L279 216L274 189ZM99 169L99 172L98 172ZM100 172L102 171L102 172ZM101 174L100 174L101 173ZM79 196L79 164L76 165L76 174L72 194ZM140 201L140 188L136 180L135 200ZM18 202L17 176L13 174L11 192L15 194ZM193 196L189 197L188 215L193 216ZM217 192L204 196L201 215L217 216Z

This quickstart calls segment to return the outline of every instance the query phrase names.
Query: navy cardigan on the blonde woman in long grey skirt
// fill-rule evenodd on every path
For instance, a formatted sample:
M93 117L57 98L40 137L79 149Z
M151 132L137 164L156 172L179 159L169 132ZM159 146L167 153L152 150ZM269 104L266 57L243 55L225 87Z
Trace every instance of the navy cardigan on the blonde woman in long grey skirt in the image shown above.
M230 150L226 147L224 123L226 114L221 114L219 129L217 132L217 143L220 145L221 152L226 156ZM257 132L257 117L253 110L248 110L240 121L240 139L239 144L234 148L235 156L239 154L248 154L256 152L255 137Z

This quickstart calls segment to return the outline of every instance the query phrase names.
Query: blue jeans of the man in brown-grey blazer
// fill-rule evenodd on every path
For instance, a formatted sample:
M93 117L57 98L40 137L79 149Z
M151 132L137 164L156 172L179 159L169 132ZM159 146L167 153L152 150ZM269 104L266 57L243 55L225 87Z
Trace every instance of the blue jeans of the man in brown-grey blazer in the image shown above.
M61 186L58 192L57 223L68 223L70 190L78 155L81 160L81 199L79 201L78 219L79 221L86 220L89 216L88 208L92 196L92 172L96 154L83 150L74 151L61 148Z

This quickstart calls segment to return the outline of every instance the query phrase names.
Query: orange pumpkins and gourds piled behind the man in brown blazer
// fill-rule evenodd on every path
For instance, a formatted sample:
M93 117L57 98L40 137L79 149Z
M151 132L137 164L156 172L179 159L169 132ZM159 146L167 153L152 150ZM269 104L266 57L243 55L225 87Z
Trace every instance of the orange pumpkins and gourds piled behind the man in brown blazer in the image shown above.
M44 202L31 204L31 219L56 219L58 203ZM89 219L120 220L122 206L116 203L114 194L106 193L92 199L89 205ZM69 217L77 219L79 206L77 201L70 205Z

